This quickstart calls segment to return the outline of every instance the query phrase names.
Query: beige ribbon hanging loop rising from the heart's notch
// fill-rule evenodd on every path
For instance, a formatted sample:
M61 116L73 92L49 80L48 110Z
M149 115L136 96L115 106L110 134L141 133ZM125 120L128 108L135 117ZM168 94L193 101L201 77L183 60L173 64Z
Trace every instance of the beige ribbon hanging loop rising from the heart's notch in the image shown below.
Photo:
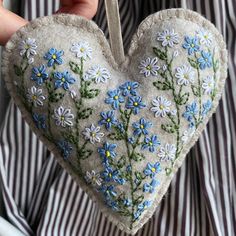
M121 33L118 1L105 0L105 7L111 51L116 62L120 65L125 61L125 55Z

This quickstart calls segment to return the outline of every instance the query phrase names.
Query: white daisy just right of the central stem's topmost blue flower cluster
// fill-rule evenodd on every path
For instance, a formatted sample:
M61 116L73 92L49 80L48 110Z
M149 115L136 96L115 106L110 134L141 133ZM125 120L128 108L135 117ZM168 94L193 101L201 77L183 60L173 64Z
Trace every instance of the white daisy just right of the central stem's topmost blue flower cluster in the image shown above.
M152 105L151 111L155 113L155 117L165 117L170 112L171 102L162 96L153 99Z

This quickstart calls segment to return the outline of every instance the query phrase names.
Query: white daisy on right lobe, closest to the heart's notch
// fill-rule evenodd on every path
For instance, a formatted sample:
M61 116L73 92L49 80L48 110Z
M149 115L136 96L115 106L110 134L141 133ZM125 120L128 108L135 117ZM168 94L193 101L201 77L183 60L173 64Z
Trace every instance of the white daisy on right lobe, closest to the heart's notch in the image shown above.
M160 67L157 65L157 57L154 58L147 58L145 60L142 60L140 62L140 65L138 66L140 70L140 74L144 74L145 77L148 77L150 75L157 75L157 71L160 69Z

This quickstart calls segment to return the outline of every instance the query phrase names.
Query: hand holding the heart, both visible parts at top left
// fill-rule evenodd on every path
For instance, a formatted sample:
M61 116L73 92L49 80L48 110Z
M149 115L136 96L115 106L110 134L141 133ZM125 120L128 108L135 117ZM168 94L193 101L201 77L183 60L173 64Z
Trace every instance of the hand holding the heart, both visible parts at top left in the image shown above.
M58 13L71 13L91 19L97 11L98 0L61 0ZM28 22L6 10L0 0L0 45L5 45L12 34Z

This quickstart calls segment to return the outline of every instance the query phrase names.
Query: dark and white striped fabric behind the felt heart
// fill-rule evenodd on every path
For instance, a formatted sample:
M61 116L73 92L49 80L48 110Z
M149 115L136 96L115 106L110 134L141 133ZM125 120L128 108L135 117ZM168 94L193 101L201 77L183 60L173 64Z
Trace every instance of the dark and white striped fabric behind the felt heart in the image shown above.
M140 21L160 9L195 10L223 33L229 49L229 78L216 114L173 179L154 216L137 233L236 235L236 1L121 0L124 45ZM22 1L27 19L51 14L56 0ZM95 17L107 32L100 1ZM99 212L30 131L11 103L0 136L0 175L9 221L25 235L125 236Z

